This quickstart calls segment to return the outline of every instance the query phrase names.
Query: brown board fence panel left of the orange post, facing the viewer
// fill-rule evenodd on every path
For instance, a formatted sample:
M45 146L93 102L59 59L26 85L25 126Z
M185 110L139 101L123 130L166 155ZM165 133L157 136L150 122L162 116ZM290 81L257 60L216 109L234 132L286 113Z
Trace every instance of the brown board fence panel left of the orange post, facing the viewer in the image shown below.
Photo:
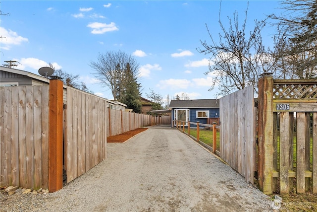
M0 87L0 185L48 188L49 86Z

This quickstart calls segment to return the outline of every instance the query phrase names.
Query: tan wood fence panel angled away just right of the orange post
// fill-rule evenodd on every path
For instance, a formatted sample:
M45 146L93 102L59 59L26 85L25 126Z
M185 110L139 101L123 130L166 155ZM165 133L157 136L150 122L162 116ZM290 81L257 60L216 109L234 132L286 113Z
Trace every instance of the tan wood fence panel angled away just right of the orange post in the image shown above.
M106 159L106 99L67 88L67 183Z

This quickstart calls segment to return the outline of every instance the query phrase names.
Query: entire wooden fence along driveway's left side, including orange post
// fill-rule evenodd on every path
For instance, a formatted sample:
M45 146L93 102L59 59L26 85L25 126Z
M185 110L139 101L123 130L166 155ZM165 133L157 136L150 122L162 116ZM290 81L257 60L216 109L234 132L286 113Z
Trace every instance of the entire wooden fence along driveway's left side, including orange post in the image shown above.
M58 78L50 86L0 87L0 186L56 191L63 168L70 182L106 158L110 131L158 124L150 115L109 110L106 99L70 87L63 99Z

